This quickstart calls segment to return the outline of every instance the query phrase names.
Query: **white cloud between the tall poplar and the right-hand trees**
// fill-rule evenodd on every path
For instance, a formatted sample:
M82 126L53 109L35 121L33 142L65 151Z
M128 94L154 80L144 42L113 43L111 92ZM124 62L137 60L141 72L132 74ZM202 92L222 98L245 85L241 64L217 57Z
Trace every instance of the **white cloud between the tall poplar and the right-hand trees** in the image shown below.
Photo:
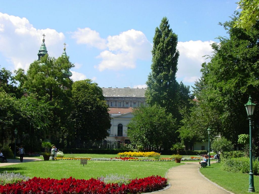
M212 54L211 44L213 41L188 41L178 42L177 49L180 52L178 59L177 80L184 83L192 83L201 76L201 64L210 59L203 57Z

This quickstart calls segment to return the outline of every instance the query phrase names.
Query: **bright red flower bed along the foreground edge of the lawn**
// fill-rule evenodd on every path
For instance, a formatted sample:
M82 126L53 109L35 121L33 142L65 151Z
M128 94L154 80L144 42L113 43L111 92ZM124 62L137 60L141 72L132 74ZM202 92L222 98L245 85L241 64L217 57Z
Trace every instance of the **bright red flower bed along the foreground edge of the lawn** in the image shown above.
M0 185L1 194L120 194L151 192L162 189L167 184L167 179L161 176L150 176L134 179L129 184L105 184L102 181L91 178L89 180L62 178L61 180L51 178L34 177L28 181L16 184Z

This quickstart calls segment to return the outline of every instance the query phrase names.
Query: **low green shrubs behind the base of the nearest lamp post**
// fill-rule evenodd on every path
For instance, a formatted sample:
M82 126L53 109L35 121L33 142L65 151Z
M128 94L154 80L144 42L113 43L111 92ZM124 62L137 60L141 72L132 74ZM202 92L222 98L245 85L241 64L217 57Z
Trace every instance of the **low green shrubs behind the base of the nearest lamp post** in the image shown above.
M249 158L224 158L222 159L222 170L230 172L249 173L250 160ZM258 158L253 161L253 173L258 175L259 161Z

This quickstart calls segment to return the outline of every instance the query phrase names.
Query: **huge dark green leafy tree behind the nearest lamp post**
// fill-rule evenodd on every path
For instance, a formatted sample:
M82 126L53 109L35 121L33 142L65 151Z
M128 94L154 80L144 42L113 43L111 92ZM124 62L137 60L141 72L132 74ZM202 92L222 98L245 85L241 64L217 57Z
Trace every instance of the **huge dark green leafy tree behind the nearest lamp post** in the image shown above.
M244 103L249 95L256 104L259 102L259 25L256 23L246 31L233 27L237 20L238 16L234 16L221 24L229 38L219 37L220 44L212 44L211 62L202 64L202 77L193 90L196 105L184 120L182 134L188 135L190 129L190 138L196 138L195 131L202 136L210 126L214 135L220 133L236 145L238 135L249 130ZM258 109L254 112L254 121L254 131L257 131Z

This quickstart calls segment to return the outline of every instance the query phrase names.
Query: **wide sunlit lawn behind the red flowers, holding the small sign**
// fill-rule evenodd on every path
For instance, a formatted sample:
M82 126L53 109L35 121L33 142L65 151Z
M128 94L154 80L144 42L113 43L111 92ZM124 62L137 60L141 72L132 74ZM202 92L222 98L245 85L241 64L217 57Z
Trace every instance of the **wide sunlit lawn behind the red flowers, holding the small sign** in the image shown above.
M88 155L89 156L89 155ZM100 156L99 156L100 157ZM175 162L136 162L136 161L88 161L80 165L80 160L35 161L0 167L0 173L20 173L29 177L89 179L107 174L129 175L130 178L143 178L151 175L164 177L166 172L181 163Z

